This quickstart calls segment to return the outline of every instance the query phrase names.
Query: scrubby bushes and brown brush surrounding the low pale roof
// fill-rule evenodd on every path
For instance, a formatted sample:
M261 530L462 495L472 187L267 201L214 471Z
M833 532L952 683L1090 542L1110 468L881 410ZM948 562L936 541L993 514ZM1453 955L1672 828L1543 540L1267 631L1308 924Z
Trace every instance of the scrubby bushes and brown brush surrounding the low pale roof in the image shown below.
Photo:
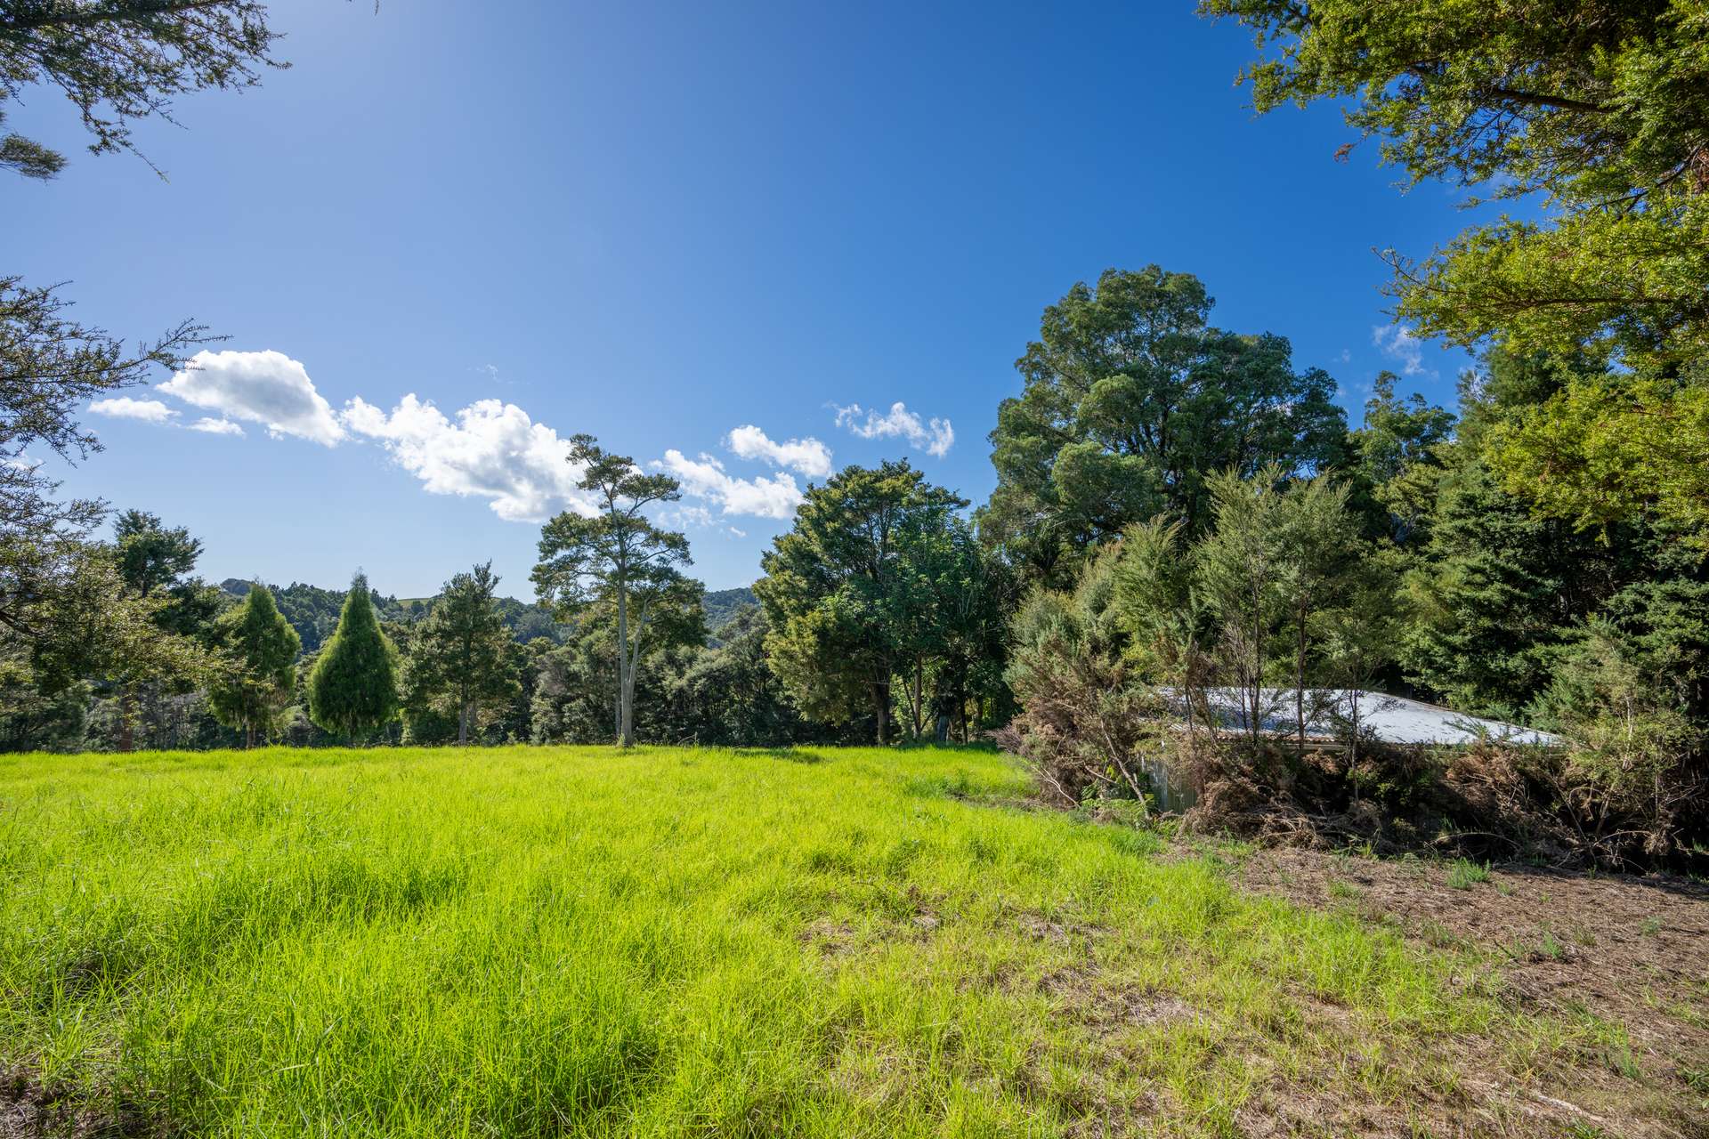
M1393 548L1352 538L1347 497L1323 480L1210 485L1203 538L1131 526L1073 589L1036 591L1015 615L1008 681L1024 710L1001 741L1049 797L1145 799L1167 772L1196 794L1188 821L1208 828L1620 867L1702 857L1700 625L1687 613L1653 603L1555 635L1528 709L1560 748L1383 746L1357 721L1331 743L1260 731L1263 714L1304 724L1318 688L1364 686L1398 627L1434 618L1407 611L1384 569ZM1213 688L1239 722L1212 710ZM1261 709L1278 690L1287 707Z

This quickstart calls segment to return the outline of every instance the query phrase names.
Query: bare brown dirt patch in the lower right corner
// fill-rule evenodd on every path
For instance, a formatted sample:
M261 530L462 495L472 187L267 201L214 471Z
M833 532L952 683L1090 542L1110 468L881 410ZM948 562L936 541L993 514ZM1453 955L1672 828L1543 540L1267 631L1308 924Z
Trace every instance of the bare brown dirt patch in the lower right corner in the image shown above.
M1475 953L1504 999L1581 1026L1574 1055L1557 1052L1523 1083L1502 1076L1504 1042L1463 1042L1461 1086L1504 1129L1490 1134L1709 1136L1709 888L1528 866L1478 881L1466 869L1266 849L1234 879Z

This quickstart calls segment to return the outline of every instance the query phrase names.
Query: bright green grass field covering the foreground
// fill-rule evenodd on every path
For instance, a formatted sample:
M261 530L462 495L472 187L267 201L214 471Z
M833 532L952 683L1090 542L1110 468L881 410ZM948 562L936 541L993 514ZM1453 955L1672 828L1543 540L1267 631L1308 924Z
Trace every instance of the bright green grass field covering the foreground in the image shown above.
M0 1067L197 1136L1215 1136L1567 1043L1025 792L947 748L3 756Z

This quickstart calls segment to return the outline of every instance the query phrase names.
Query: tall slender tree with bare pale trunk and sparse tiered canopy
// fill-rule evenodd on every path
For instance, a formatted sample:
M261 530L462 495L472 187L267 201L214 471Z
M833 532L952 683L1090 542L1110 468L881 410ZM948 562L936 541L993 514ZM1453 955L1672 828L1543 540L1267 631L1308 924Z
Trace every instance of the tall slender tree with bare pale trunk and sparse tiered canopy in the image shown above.
M644 511L675 502L682 490L668 475L644 475L636 461L610 454L593 435L571 439L569 461L581 464L578 487L596 502L593 517L559 514L540 531L535 591L559 620L593 606L615 611L617 743L634 745L636 673L649 645L648 622L665 610L699 610L704 587L682 575L689 540L660 529Z

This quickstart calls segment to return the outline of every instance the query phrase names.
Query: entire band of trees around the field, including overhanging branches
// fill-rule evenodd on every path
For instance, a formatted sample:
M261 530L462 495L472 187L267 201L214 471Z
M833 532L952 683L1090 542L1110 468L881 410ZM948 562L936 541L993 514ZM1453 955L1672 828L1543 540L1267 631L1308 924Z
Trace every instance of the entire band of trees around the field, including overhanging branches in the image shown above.
M1191 273L1109 270L1024 347L988 502L907 463L832 475L716 644L689 543L655 521L678 488L588 437L573 458L602 509L547 523L538 635L518 640L473 567L408 613L357 579L311 640L284 591L232 606L193 579L195 543L152 516L94 538L104 504L58 500L29 458L99 449L79 408L179 365L208 331L126 347L72 319L58 287L0 277L7 745L77 746L77 709L109 721L109 746L152 741L174 707L205 707L181 743L890 743L1007 726L1073 801L1143 803L1135 760L1167 745L1232 813L1377 809L1437 830L1523 816L1615 862L1699 857L1709 17L1687 0L1584 0L1547 20L1504 0L1200 10L1254 32L1258 111L1343 101L1412 181L1543 200L1535 220L1470 225L1422 260L1386 254L1396 316L1477 355L1458 406L1384 374L1352 425L1328 372L1297 367L1282 335L1215 326ZM92 150L126 149L126 125L169 96L255 82L273 63L265 15L241 0L0 14L0 102L58 89ZM67 161L7 135L0 166L50 179ZM1571 743L1422 770L1352 726L1323 770L1302 731L1292 748L1242 743L1205 697L1285 690L1304 721L1326 686ZM1420 813L1444 789L1459 815Z

